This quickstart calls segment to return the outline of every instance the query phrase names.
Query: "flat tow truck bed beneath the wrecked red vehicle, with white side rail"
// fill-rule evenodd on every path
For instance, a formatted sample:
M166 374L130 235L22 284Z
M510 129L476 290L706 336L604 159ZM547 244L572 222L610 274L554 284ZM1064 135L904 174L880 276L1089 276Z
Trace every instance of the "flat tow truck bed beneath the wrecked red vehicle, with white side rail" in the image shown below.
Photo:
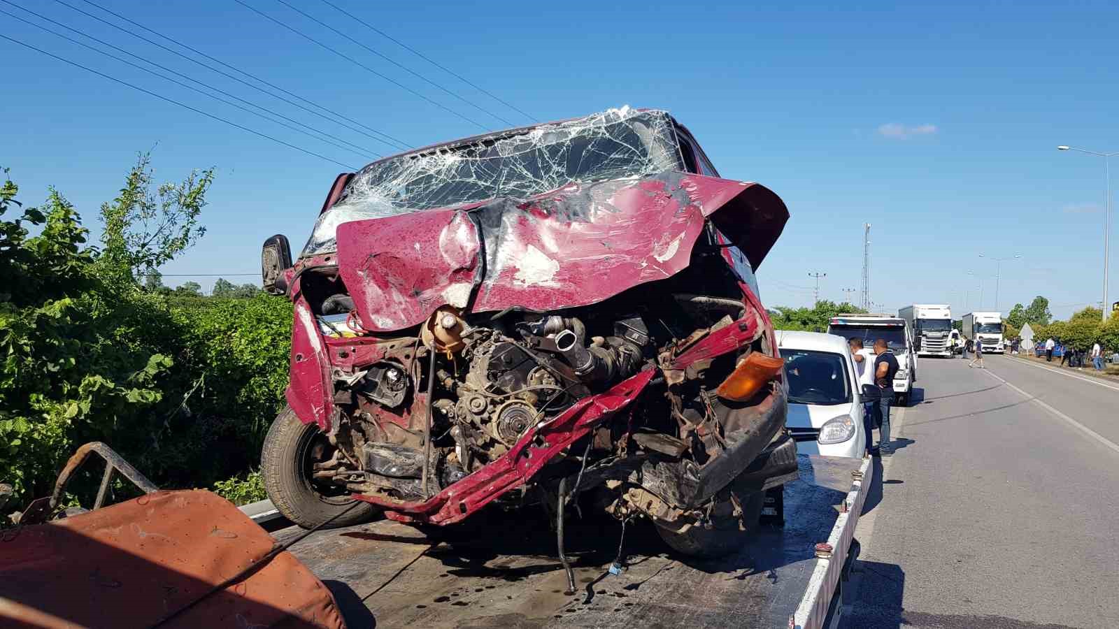
M612 575L620 524L590 513L572 519L575 595L564 594L555 534L535 511L491 514L450 543L379 520L317 533L291 552L333 591L350 628L822 627L873 466L815 456L799 462L800 478L784 490L784 526L763 526L733 556L669 555L648 523L631 523L627 569ZM817 557L818 543L831 545L830 558Z

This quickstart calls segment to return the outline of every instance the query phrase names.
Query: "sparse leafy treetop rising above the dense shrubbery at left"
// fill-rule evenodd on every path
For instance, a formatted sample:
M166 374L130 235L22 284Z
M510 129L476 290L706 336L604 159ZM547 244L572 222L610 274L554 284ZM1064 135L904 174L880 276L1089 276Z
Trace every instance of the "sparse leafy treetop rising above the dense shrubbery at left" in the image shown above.
M140 153L117 197L101 206L102 262L141 275L194 245L206 233L198 217L213 182L213 168L194 170L182 181L160 184L152 191L151 154Z

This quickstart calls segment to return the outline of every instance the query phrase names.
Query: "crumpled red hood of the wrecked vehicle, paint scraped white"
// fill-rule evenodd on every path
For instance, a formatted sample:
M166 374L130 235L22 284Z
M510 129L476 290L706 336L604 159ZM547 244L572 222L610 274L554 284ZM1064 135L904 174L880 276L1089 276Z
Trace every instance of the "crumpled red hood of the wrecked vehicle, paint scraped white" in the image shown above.
M684 172L571 184L338 226L338 267L361 325L392 331L443 304L469 312L587 306L688 265L711 218L756 269L789 212L759 184Z

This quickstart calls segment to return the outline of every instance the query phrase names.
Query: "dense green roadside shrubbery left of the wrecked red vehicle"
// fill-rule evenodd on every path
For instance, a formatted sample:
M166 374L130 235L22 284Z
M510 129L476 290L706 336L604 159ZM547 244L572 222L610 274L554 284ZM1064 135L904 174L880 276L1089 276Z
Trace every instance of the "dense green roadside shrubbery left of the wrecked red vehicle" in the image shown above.
M255 468L286 385L291 304L180 297L137 281L201 235L213 171L152 193L142 156L102 207L101 247L62 194L25 207L4 179L0 482L16 491L6 510L49 494L86 441L109 443L167 487L208 487ZM225 487L253 491L252 482Z

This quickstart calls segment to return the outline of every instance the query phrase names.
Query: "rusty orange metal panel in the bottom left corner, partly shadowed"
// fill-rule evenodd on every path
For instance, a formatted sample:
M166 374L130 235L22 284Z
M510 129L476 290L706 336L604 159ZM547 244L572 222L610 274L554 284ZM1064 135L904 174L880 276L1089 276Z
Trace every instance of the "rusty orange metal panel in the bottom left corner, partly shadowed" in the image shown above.
M157 491L4 532L0 626L152 627L263 558L274 541L209 491ZM344 628L330 591L290 553L161 627Z

